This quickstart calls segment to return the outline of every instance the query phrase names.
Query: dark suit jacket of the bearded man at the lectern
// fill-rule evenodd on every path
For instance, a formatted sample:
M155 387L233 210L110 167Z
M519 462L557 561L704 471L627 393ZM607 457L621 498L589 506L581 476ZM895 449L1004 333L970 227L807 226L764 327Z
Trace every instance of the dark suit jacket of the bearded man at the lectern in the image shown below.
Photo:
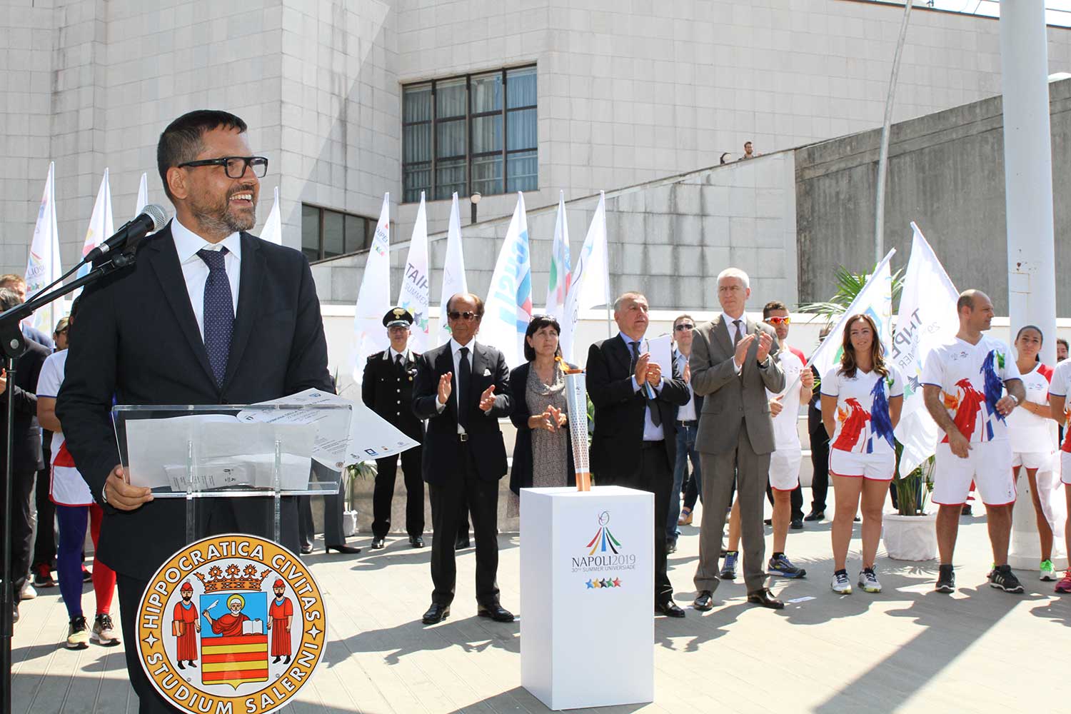
M56 415L97 502L120 462L109 414L112 395L120 405L240 405L310 388L334 393L308 261L248 233L241 241L238 309L222 386L212 376L170 225L138 246L133 267L82 293ZM243 514L262 511L268 501L202 500L229 501L239 527ZM297 511L289 513L292 503L284 505L284 518L293 517L284 522L284 545L296 548ZM147 580L185 545L184 499L105 511L100 555L118 573Z

